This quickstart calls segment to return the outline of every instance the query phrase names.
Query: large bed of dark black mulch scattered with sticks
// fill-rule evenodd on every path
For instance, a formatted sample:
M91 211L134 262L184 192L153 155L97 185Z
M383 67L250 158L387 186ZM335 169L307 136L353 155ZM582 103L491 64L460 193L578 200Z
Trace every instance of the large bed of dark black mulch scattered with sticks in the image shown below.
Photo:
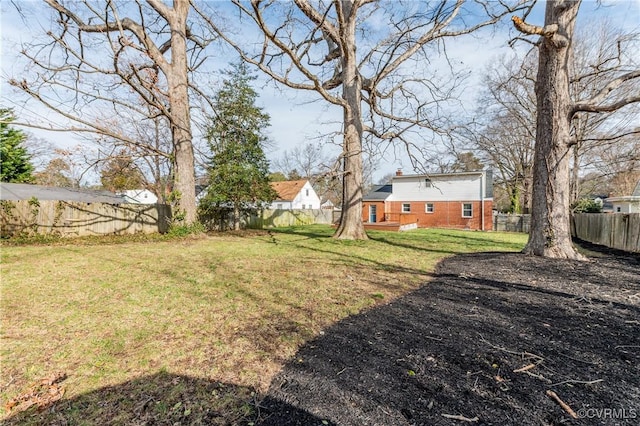
M640 424L640 259L446 259L302 347L256 424Z

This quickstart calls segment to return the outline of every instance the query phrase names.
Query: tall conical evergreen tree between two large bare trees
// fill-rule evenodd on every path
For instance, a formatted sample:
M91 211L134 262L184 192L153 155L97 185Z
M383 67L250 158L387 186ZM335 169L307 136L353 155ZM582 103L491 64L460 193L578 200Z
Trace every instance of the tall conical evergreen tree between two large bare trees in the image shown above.
M264 208L276 196L263 150L269 115L255 105L258 95L251 87L255 77L246 64L232 65L225 75L214 99L217 114L207 132L213 156L209 186L199 208L201 218L218 219L221 227L226 214L232 212L233 228L240 229L242 215Z

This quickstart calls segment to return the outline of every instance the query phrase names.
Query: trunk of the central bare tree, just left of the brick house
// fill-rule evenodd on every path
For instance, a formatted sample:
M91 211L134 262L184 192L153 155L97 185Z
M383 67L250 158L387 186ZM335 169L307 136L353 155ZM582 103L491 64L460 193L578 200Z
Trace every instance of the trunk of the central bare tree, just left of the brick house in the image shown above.
M352 16L353 4L341 3L343 16L348 24L342 29L342 97L344 110L342 213L335 237L350 240L366 240L362 223L362 81L356 63L356 18Z

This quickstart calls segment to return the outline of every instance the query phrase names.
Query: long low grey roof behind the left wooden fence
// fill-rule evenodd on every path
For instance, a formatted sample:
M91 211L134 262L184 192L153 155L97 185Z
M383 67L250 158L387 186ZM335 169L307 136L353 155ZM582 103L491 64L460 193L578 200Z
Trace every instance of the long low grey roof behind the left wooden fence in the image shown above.
M77 201L81 203L124 204L124 197L109 191L92 191L77 188L58 188L53 186L30 185L27 183L0 183L0 199L8 201Z

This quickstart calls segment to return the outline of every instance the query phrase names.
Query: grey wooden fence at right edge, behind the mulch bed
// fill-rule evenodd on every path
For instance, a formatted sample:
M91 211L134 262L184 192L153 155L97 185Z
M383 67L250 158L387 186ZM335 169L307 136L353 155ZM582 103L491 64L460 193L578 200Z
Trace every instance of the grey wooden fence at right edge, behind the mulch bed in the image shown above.
M576 213L574 236L590 243L640 252L640 213Z

